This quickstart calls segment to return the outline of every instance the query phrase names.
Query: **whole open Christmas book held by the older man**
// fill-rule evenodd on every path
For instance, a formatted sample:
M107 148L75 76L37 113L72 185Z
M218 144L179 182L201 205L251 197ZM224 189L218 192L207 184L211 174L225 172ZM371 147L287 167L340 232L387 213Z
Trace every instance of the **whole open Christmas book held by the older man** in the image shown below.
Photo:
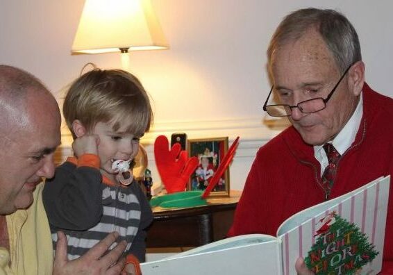
M142 263L143 275L296 274L299 256L316 274L378 274L390 176L307 208L288 218L277 236L219 240L175 256Z

